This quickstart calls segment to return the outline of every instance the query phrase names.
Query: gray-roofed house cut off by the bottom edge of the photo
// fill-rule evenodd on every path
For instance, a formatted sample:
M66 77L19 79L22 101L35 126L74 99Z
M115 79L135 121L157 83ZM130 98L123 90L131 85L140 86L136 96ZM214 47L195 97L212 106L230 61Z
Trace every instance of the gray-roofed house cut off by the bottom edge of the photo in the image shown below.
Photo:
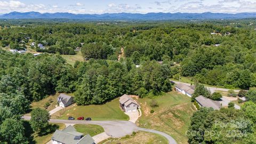
M53 144L94 144L94 140L89 134L83 136L83 133L77 132L76 129L69 125L66 129L56 130L52 136Z

